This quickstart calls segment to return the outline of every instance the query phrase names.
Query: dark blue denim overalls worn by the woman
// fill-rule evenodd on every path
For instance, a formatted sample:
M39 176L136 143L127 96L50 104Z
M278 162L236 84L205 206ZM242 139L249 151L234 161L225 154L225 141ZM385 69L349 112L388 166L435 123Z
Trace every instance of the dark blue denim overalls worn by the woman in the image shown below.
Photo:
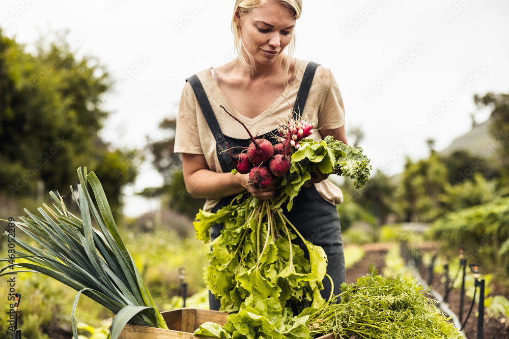
M309 93L309 88L313 82L315 71L319 65L310 62L306 67L302 83L300 85L296 105L294 106L294 119L297 119L296 106L303 110ZM227 149L228 145L234 150L243 149L251 142L250 139L237 139L229 137L222 133L219 128L219 124L215 117L214 111L210 106L205 90L196 75L188 78L191 87L193 88L194 94L200 108L207 120L207 123L212 131L212 134L216 139L216 149L219 163L223 172L231 172L234 169L233 162L228 152L222 151ZM265 139L271 140L273 144L277 143L275 138L271 138L270 135L275 135L276 130L269 132L265 135L259 136L260 138L265 136ZM232 199L237 196L233 195L230 197L222 198L212 209L212 212L217 212L220 208L228 205ZM318 193L315 185L313 184L309 188L302 188L298 196L294 198L293 207L290 212L286 211L283 204L284 213L290 222L295 226L304 239L312 242L315 245L321 246L325 254L327 255L327 274L330 275L334 282L334 294L341 293L340 286L345 282L345 258L343 253L343 242L341 240L341 227L340 217L337 213L336 205L324 199L320 193ZM223 224L217 224L212 227L211 238L215 239L220 235ZM307 257L307 249L304 243L296 238L293 240L295 244L298 244ZM326 300L330 296L331 284L327 277L323 280L324 289L321 291L322 297ZM219 310L220 301L216 300L212 293L209 293L209 304L211 310Z

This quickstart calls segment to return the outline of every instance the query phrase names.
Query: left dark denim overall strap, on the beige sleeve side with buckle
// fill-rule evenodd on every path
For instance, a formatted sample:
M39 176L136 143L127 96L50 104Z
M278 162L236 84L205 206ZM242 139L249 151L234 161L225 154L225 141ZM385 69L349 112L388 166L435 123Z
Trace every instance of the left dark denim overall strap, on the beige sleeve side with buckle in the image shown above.
M221 128L219 127L219 123L217 122L217 118L212 110L212 106L210 106L209 99L207 98L207 94L205 93L205 89L203 88L202 82L200 79L194 74L190 78L186 79L192 87L194 91L194 95L196 96L196 100L200 104L200 108L202 109L203 115L205 116L205 120L209 125L210 131L212 135L216 139L216 150L217 150L217 158L219 159L219 163L221 167L227 168L227 164L232 160L230 159L230 155L225 150L228 149L226 144L226 140L224 139L224 135L221 132Z

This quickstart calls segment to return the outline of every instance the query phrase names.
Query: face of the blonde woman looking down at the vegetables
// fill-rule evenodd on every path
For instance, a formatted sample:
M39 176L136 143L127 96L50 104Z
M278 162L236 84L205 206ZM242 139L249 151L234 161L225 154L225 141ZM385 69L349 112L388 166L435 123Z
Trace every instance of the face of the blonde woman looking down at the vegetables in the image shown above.
M241 27L244 47L256 64L272 64L292 40L293 13L273 1L267 1L236 20Z

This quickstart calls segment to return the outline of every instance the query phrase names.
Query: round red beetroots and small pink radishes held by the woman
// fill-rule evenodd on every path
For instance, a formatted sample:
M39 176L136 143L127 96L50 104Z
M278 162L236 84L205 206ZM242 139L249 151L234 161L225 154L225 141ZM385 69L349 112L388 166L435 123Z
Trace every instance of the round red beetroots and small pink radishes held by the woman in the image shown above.
M237 120L247 131L251 143L247 149L237 155L230 151L235 169L241 174L249 173L249 181L254 189L268 188L274 177L281 177L290 171L291 155L299 149L299 142L313 133L313 123L296 122L290 118L277 128L279 143L272 145L267 139L255 139L242 121L233 116L223 106L225 112Z

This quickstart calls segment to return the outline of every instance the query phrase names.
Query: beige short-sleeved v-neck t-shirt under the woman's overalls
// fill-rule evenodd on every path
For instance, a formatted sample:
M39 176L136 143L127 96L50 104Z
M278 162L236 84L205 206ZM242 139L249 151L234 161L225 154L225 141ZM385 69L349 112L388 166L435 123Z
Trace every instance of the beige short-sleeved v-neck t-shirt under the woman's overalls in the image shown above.
M222 133L232 138L247 139L249 136L244 127L224 112L220 105L241 120L253 136L268 133L291 116L292 111L285 98L292 106L295 104L308 62L297 59L293 76L282 95L267 110L253 119L242 115L230 104L217 85L212 68L203 70L196 75L202 82ZM335 129L345 124L343 99L329 69L318 67L301 117L307 122L315 122L312 135L314 140L321 140L320 133L316 128ZM188 82L182 91L177 115L175 152L203 154L210 170L222 172L216 153L216 140ZM316 183L315 187L320 195L331 203L341 204L343 202L343 193L332 182L324 180ZM218 201L219 199L207 199L203 209L210 211Z

